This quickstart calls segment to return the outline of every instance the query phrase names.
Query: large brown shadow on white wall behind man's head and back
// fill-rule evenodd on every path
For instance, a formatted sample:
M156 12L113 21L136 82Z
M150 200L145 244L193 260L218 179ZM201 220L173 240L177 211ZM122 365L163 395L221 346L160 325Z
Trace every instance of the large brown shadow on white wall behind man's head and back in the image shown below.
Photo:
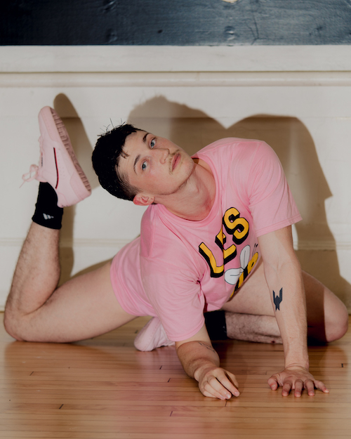
M336 243L326 221L324 202L332 194L313 139L300 120L257 114L226 129L200 110L157 97L135 107L128 122L169 138L190 155L220 138L265 140L281 160L303 216L303 221L296 224L296 253L303 269L317 277L345 303L348 302L351 285L340 276Z

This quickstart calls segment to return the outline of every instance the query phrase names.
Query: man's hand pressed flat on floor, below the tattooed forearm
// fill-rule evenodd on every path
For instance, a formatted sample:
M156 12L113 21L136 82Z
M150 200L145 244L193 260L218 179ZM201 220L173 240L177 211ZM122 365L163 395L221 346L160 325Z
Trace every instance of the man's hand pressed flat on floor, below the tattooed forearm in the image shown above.
M324 393L329 393L322 381L314 379L314 377L304 367L287 367L282 372L274 374L268 379L268 384L272 391L276 391L279 386L283 387L282 395L289 395L293 390L295 396L301 396L303 389L307 389L310 396L314 396L314 388L319 388Z

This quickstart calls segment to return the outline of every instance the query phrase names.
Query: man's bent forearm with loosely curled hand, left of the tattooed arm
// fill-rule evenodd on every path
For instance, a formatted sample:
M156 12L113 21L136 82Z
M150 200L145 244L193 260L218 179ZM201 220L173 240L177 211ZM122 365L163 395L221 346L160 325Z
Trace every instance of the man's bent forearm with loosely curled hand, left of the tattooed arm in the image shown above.
M184 341L176 341L176 349L185 372L199 382L204 396L227 400L239 396L234 374L219 367L220 360L204 325L197 334Z

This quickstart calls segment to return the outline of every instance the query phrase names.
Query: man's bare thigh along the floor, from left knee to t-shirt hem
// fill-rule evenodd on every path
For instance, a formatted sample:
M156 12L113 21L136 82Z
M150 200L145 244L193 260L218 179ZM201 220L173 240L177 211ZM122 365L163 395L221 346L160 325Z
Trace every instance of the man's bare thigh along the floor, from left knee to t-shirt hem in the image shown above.
M133 318L114 295L107 263L62 284L41 308L25 317L23 325L27 341L64 343L105 334Z

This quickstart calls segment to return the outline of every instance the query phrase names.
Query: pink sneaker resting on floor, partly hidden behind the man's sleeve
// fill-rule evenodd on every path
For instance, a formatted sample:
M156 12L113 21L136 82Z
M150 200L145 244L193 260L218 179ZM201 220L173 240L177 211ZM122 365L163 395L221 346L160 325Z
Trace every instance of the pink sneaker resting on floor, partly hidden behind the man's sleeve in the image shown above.
M174 346L176 343L167 338L164 327L157 317L147 322L135 337L134 346L138 350L154 350L161 346Z

